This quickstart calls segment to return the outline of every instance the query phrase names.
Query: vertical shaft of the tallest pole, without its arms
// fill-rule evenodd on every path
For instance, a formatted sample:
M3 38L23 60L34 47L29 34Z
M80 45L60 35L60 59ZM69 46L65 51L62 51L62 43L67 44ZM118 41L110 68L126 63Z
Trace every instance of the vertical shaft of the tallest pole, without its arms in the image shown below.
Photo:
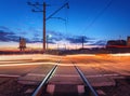
M46 2L43 2L43 52L46 52Z

